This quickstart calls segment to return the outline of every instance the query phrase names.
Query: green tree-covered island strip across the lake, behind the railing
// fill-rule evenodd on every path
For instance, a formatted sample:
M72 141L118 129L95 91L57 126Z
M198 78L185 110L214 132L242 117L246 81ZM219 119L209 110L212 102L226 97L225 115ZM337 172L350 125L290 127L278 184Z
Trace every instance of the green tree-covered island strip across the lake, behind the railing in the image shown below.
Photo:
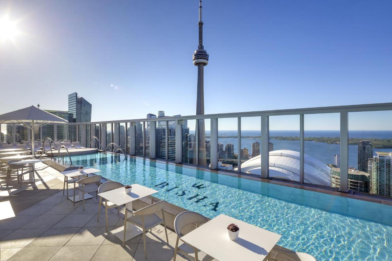
M206 135L206 138L210 138L210 135ZM218 138L238 138L237 135L218 135ZM242 139L260 139L260 136L241 136ZM290 140L299 141L299 137L288 137L288 136L270 136L271 140ZM305 141L323 142L327 144L340 144L339 137L305 137ZM372 142L373 148L377 149L389 149L392 148L392 139L380 139L380 138L348 138L349 145L358 145L361 140L368 140Z

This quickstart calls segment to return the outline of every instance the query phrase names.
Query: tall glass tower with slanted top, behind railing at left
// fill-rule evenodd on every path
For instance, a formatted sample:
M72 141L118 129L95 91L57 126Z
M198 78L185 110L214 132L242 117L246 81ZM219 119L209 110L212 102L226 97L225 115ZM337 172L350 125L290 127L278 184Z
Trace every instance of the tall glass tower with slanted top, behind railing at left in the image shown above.
M78 97L76 92L68 95L68 113L69 122L91 122L91 103L83 97ZM69 125L69 140L76 140L76 125ZM82 130L79 129L79 140L82 136Z

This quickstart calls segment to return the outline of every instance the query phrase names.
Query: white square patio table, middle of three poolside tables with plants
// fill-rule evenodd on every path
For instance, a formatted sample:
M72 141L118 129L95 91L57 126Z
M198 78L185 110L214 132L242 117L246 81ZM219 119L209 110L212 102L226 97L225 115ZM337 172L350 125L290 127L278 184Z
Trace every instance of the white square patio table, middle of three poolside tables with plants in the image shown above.
M158 192L158 190L154 190L152 188L147 188L147 187L144 187L139 184L132 184L131 186L132 186L132 192L129 194L125 193L124 188L116 188L113 190L102 192L102 193L98 194L98 196L100 196L104 199L107 199L108 201L113 202L117 206L122 206L125 204L125 207L132 211L133 210L132 201ZM131 216L132 216L132 213L131 213ZM123 237L124 237L124 226L112 230L111 233L114 234L114 236L118 237L122 241ZM142 228L137 227L131 223L127 223L127 231L125 234L125 241L127 241L133 237L136 237L142 233L143 233Z

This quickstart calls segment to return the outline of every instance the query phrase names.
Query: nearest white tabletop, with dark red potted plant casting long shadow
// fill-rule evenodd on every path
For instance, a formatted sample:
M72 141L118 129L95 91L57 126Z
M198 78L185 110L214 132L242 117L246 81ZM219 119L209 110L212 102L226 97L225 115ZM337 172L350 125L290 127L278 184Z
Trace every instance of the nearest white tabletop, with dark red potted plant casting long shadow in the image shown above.
M227 234L227 226L231 223L240 228L240 234L235 241L230 240ZM262 261L280 237L263 228L220 214L182 236L181 240L218 260Z

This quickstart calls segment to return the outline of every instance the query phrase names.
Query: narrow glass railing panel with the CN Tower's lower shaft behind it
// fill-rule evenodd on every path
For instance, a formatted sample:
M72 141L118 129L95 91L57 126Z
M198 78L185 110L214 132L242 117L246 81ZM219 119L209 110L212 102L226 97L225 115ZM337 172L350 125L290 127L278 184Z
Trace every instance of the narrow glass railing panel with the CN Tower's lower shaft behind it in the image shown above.
M211 119L199 121L199 165L209 167L211 162Z

